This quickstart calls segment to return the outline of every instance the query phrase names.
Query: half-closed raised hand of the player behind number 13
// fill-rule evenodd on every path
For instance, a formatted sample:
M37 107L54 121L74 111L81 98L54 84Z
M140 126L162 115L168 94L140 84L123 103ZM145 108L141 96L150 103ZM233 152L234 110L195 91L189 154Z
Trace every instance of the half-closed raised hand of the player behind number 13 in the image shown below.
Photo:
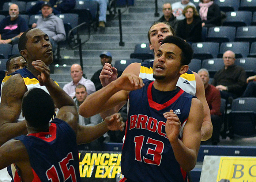
M107 86L110 82L117 79L117 69L112 67L111 64L105 63L99 75L103 87Z

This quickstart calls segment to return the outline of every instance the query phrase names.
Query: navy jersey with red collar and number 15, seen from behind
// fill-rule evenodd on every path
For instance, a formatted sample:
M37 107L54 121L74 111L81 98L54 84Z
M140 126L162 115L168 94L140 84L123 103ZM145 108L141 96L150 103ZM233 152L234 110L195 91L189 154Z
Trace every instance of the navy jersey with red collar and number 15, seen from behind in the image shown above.
M49 132L22 135L20 140L29 154L36 182L80 182L78 147L72 128L53 119Z

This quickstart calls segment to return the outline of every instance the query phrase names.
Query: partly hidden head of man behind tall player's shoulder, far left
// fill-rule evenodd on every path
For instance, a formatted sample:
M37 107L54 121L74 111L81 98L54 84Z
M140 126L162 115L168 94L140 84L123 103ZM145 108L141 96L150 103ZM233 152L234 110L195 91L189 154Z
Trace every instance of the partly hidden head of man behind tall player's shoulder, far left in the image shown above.
M25 66L27 66L27 62L20 54L16 54L11 56L7 60L5 66L6 66L5 76L7 76L16 70L22 69Z

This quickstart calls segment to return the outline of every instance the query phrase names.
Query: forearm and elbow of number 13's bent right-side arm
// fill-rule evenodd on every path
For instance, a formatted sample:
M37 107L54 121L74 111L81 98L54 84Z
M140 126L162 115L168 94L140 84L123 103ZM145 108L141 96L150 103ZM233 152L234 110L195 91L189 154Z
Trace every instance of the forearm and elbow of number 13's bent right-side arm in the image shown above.
M174 156L177 162L182 167L182 169L187 172L191 171L196 165L196 151L186 147L184 143L180 141L180 139L177 139L177 141L171 143L171 145L174 152Z

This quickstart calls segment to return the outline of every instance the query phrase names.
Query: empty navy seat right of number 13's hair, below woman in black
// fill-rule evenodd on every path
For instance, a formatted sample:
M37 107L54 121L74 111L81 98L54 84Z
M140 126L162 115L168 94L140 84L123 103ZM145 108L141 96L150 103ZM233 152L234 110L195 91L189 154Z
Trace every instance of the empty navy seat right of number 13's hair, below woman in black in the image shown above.
M193 58L200 60L217 58L219 52L219 43L216 42L192 43L191 47L194 51Z

